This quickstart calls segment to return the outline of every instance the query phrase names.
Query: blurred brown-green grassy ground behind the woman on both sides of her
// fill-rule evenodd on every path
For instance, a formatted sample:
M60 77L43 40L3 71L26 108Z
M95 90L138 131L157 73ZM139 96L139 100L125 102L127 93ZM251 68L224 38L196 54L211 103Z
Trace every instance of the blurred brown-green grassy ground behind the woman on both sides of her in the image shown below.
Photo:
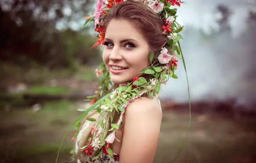
M78 103L49 103L39 112L1 112L1 163L53 163L69 125L80 112ZM11 121L10 121L11 119ZM189 114L163 113L155 163L170 163L183 141L186 145L177 163L254 163L256 160L255 119L234 121L218 115L192 113L189 135L184 139ZM3 134L4 133L4 134ZM72 133L70 130L69 135ZM67 137L59 162L70 161L72 141Z

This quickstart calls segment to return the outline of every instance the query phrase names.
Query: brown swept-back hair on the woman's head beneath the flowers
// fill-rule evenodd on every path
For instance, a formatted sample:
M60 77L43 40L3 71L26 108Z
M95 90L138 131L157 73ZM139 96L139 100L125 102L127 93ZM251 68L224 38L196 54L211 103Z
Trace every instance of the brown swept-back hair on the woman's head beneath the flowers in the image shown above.
M146 38L150 50L155 53L168 41L166 34L163 34L163 21L149 6L137 1L126 1L110 9L110 12L104 20L104 27L112 19L125 19L134 24L135 27Z

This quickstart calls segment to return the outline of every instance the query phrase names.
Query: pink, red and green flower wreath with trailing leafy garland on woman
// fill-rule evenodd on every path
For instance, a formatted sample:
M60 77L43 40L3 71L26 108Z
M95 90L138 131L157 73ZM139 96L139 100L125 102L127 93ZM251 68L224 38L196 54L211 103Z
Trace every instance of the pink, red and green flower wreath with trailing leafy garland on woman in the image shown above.
M85 17L87 20L84 24L85 26L89 21L94 21L94 29L96 32L98 32L98 40L91 48L96 48L97 46L99 47L99 45L104 43L105 29L101 25L101 22L103 22L105 16L108 15L109 10L113 6L125 1L127 0L97 0L94 14ZM99 157L101 150L103 150L104 154L109 154L110 157L113 157L113 151L109 148L109 145L112 144L116 139L116 131L122 127L122 118L126 107L133 100L139 97L143 96L153 98L160 91L160 84L166 84L169 78L177 78L177 75L174 74L174 71L177 69L178 62L176 57L183 60L183 65L186 72L185 61L179 42L180 39L183 39L183 36L179 33L184 29L184 26L181 26L176 21L177 9L171 9L171 6L180 6L180 4L184 2L181 2L180 0L141 1L145 5L149 6L162 19L163 33L167 35L169 40L157 55L154 55L152 52L149 53L149 62L151 65L140 72L137 77L133 78L133 81L128 82L127 86L120 86L119 88L116 88L115 90L113 89L113 91L110 92L109 87L112 83L110 81L110 74L107 71L104 62L101 63L98 66L98 69L95 70L96 75L100 78L100 80L98 87L95 88L94 95L87 97L87 100L90 100L91 106L86 110L82 110L82 115L80 115L70 126L72 127L75 125L76 131L73 134L72 139L76 142L76 140L79 139L78 133L81 125L80 119L84 118L89 112L100 113L97 120L94 118L87 119L87 121L95 121L95 126L91 127L92 131L91 136L88 139L88 144L80 148L80 150L85 151L86 154L93 155L93 159ZM102 97L103 94L107 95ZM110 122L108 123L110 125L108 127L106 123L107 121ZM109 127L111 128L107 131L107 128ZM66 135L67 133L65 136ZM64 142L64 138L61 145ZM61 146L59 151L60 149ZM58 160L58 155L56 163Z

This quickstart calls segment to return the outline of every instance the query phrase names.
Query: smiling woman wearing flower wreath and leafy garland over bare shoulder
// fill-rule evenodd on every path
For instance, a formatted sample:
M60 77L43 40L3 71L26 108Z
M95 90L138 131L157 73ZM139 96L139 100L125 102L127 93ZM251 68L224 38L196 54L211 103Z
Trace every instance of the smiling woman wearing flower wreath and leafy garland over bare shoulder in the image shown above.
M153 162L162 121L157 94L166 75L177 78L175 55L180 49L175 43L182 30L171 16L176 10L164 6L178 1L97 1L88 20L94 19L99 32L95 45L104 45L104 65L96 70L102 75L101 87L88 97L94 112L75 136L75 162ZM118 88L96 103L110 81Z

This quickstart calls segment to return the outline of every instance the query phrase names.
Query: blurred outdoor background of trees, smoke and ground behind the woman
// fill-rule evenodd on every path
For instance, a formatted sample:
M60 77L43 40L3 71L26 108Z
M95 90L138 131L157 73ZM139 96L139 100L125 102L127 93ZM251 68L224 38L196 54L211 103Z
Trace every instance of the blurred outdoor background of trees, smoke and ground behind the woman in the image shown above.
M0 0L0 163L52 163L86 108L101 63L95 0ZM256 162L256 2L186 0L178 8L182 60L160 92L155 163ZM70 130L69 135L72 134ZM59 162L70 161L67 136Z

